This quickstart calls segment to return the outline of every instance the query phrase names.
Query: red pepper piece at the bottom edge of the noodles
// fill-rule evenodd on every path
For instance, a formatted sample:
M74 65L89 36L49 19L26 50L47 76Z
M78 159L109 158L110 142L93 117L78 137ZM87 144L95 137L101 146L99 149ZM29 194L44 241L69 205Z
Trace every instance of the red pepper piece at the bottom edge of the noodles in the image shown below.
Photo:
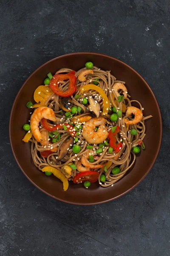
M99 178L99 172L94 171L87 171L87 172L79 172L76 176L73 178L73 183L79 183L80 181L90 181L91 183L94 183Z

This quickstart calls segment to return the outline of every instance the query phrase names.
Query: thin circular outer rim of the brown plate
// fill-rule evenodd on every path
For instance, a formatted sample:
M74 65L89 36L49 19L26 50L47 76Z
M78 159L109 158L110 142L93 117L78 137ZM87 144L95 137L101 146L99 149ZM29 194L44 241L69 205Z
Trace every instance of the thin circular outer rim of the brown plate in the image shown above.
M23 87L25 86L25 84L27 83L27 81L34 75L34 73L36 73L38 70L40 70L43 66L45 66L46 64L48 64L49 62L51 61L54 61L56 59L59 59L59 58L62 58L64 56L70 56L70 55L81 55L81 54L89 54L89 55L98 55L98 56L105 56L107 58L111 58L113 60L116 60L118 62L120 62L121 64L124 64L125 66L127 66L128 68L130 68L134 73L136 73L137 76L139 76L140 79L142 79L142 81L146 84L147 88L150 90L150 93L153 95L153 98L156 102L156 106L158 108L158 113L159 113L159 121L160 121L160 137L159 137L159 145L158 145L158 149L156 151L156 154L155 154L155 157L153 159L153 161L150 163L150 166L147 170L147 172L145 173L145 175L137 182L135 183L130 189L126 190L125 192L123 192L122 194L114 197L114 198L110 198L108 200L105 200L105 201L100 201L100 202L95 202L95 203L75 203L75 202L71 202L71 201L67 201L67 200L62 200L60 198L57 198L56 196L54 195L51 195L49 194L48 192L46 192L45 190L41 189L39 186L37 186L37 184L34 183L33 180L31 180L27 175L26 173L24 172L23 168L20 166L20 163L18 162L17 160L17 157L15 156L15 153L14 153L14 148L13 148L13 145L12 145L12 141L11 141L11 119L12 119L12 114L13 114L13 111L14 111L14 105L16 104L17 102L17 98L20 94L20 91L23 89ZM28 78L26 79L26 81L23 83L23 85L20 87L20 90L18 91L17 95L15 96L15 99L14 99L14 102L12 104L12 108L11 108L11 113L10 113L10 118L9 118L9 140L10 140L10 145L11 145L11 150L12 150L12 153L13 153L13 156L14 156L14 159L15 161L17 162L17 165L19 166L20 170L23 172L23 174L27 177L27 179L35 186L37 187L37 189L40 189L40 191L42 191L43 193L45 193L46 195L56 199L56 200L59 200L61 202L64 202L64 203L67 203L67 204L74 204L74 205L97 205L97 204L104 204L104 203L107 203L107 202L110 202L110 201L113 201L117 198L120 198L122 197L123 195L126 195L128 192L130 192L132 189L134 189L136 186L139 185L139 183L142 182L142 180L144 180L144 178L148 175L148 173L150 172L150 170L152 169L153 165L155 164L156 162L156 159L158 157L158 154L159 154L159 151L160 151L160 148L161 148L161 141L162 141L162 118L161 118L161 111L160 111L160 108L159 108L159 103L157 102L157 99L156 99L156 96L155 94L153 93L152 89L150 88L149 84L147 84L147 81L145 81L145 79L136 71L134 70L132 67L130 67L128 64L126 64L125 62L117 59L117 58L114 58L114 57L111 57L109 55L106 55L106 54L102 54L102 53L98 53L98 52L71 52L71 53L67 53L67 54L64 54L64 55L59 55L55 58L52 58L51 60L49 61L46 61L44 64L42 64L40 67L38 67L36 70L34 70L33 73L31 73L30 76L28 76Z

